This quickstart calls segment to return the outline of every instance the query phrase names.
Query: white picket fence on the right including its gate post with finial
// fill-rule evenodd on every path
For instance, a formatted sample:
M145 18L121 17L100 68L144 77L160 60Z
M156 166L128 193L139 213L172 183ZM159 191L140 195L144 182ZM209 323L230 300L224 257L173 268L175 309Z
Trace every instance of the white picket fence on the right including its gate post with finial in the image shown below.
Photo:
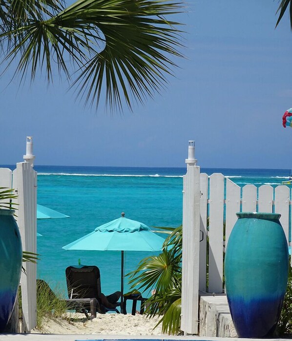
M223 255L237 212L280 213L287 243L292 222L289 187L242 189L221 173L200 173L194 158L194 142L189 142L187 174L183 190L182 319L185 334L198 332L199 291L223 293ZM209 217L209 225L208 225ZM224 241L224 222L226 226ZM208 237L208 238L207 238ZM209 239L209 242L207 242ZM209 271L207 281L207 248ZM208 286L207 286L208 282Z

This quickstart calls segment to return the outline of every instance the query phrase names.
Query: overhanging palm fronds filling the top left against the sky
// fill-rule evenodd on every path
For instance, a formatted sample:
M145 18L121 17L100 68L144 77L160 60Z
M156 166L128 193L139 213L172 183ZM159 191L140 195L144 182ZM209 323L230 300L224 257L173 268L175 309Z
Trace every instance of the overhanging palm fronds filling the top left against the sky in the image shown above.
M4 68L17 63L21 80L45 71L51 82L57 67L85 104L97 107L103 96L110 109L131 108L167 85L171 59L182 56L172 20L181 11L181 0L77 0L67 8L63 0L3 0Z

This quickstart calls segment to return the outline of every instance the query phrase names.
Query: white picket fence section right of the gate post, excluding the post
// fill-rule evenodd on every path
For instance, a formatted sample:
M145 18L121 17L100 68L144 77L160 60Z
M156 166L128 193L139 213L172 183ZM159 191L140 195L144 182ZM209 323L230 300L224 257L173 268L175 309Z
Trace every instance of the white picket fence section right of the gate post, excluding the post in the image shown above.
M262 185L259 188L254 185L245 185L241 189L221 173L214 173L210 177L202 173L200 174L200 183L200 211L201 216L204 217L201 219L200 230L205 236L209 236L209 245L206 237L200 242L199 290L209 293L222 293L224 292L223 253L237 220L236 213L280 213L280 222L287 243L289 243L291 190L284 185L279 185L275 189L270 185ZM209 231L207 231L207 215L209 215ZM225 242L223 240L224 221L226 225ZM208 287L206 287L207 247L209 247Z

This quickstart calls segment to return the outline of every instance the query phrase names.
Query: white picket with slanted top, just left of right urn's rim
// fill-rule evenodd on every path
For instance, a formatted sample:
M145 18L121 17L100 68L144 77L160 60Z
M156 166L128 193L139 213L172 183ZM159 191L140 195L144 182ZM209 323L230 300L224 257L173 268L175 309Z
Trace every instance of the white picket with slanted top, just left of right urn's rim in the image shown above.
M237 220L236 213L240 211L240 187L230 179L226 179L226 217L225 217L225 248L229 235Z

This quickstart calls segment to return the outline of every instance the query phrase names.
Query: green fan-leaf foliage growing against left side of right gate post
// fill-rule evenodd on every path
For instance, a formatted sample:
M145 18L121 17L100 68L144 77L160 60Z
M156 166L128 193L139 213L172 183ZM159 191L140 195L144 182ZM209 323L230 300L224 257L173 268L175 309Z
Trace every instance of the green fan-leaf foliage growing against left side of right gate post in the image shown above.
M143 292L152 290L146 301L149 317L161 316L162 332L179 334L182 295L182 226L163 228L170 234L158 256L144 258L128 276L132 288ZM159 324L158 323L158 324Z

